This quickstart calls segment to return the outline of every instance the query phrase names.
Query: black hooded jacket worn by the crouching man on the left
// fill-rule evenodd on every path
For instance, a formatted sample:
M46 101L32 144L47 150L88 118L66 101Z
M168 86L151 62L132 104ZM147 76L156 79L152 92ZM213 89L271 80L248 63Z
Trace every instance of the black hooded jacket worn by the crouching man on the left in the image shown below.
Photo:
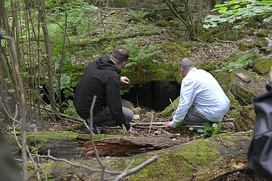
M109 107L110 113L116 122L125 124L123 114L118 70L110 57L100 57L86 68L75 90L74 104L80 117L90 117L90 105L93 96L97 96L93 115L101 113L104 107ZM95 120L94 120L95 122ZM125 125L127 128L130 126Z

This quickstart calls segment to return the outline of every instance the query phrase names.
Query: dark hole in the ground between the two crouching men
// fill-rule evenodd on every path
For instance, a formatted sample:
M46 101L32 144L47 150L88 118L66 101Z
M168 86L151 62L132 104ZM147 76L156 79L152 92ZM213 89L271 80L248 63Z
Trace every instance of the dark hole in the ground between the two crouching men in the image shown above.
M151 81L136 84L121 97L134 104L134 107L145 107L154 111L162 111L180 96L180 84L169 81Z

